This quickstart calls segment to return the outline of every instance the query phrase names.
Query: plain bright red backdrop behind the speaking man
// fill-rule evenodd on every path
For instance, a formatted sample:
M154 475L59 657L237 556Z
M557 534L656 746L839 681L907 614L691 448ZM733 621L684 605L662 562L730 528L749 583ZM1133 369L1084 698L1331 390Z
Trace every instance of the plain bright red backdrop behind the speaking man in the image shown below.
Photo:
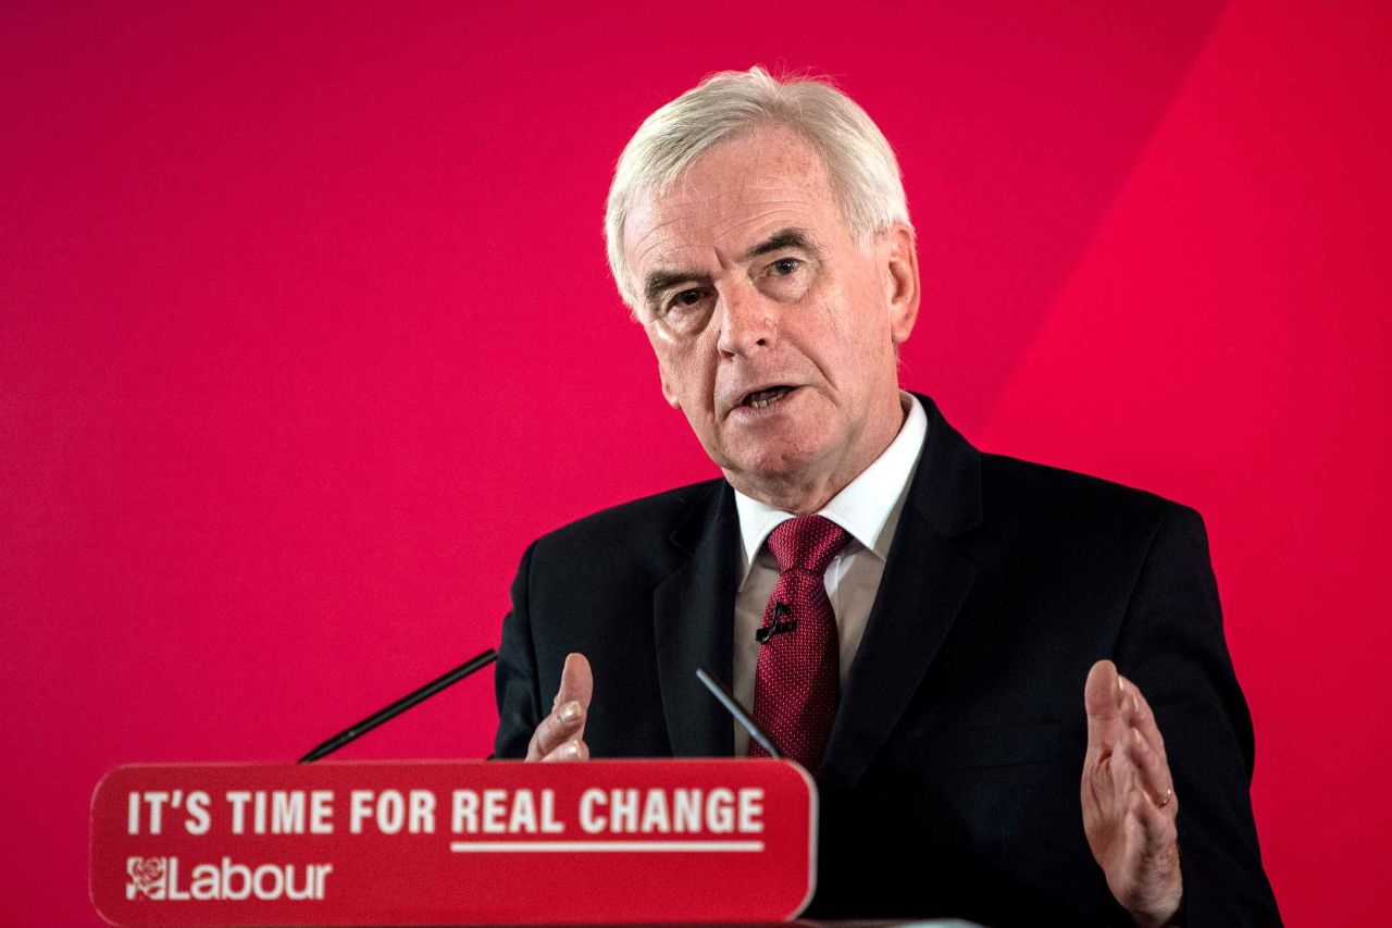
M496 644L532 538L713 474L600 216L753 63L901 153L906 386L1204 513L1283 911L1379 920L1389 7L658 6L6 4L0 921L96 922L110 766L298 757ZM470 680L344 755L493 726Z

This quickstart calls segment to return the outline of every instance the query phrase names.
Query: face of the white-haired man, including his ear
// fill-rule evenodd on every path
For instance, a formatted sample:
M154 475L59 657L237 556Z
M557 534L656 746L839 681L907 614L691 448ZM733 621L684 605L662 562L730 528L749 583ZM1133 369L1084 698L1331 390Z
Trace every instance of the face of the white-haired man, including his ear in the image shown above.
M859 247L799 135L717 145L629 215L624 249L663 394L738 489L814 510L898 433L913 235Z

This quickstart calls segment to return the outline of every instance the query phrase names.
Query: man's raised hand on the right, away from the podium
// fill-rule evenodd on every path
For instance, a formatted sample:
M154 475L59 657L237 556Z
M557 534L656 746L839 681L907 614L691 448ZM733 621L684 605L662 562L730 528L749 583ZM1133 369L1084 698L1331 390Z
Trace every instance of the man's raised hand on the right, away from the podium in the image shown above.
M1183 900L1175 817L1179 797L1146 697L1098 660L1083 691L1083 830L1107 886L1137 925L1172 924Z

